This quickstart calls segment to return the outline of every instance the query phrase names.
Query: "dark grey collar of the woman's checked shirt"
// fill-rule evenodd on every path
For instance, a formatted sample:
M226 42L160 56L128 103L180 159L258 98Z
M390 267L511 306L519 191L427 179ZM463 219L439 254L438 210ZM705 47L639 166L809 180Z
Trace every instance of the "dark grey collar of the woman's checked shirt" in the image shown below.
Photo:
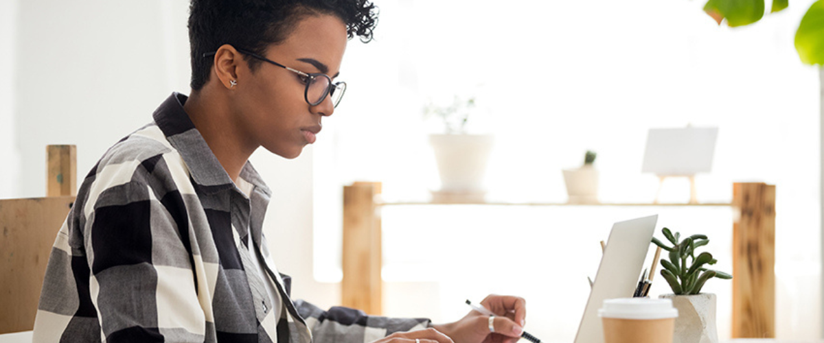
M208 144L183 109L189 97L174 92L155 110L152 117L160 127L166 140L171 143L189 166L189 173L203 192L214 193L235 188L229 174L223 169L218 158L209 149ZM270 196L271 191L260 178L257 170L246 161L240 177L255 185L256 190Z

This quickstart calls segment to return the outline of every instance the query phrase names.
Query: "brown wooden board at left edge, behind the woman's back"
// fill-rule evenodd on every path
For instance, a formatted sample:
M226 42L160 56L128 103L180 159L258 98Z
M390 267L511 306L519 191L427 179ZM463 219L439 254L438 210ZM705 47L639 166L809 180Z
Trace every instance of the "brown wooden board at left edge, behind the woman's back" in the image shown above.
M0 200L0 334L35 326L54 238L74 197Z

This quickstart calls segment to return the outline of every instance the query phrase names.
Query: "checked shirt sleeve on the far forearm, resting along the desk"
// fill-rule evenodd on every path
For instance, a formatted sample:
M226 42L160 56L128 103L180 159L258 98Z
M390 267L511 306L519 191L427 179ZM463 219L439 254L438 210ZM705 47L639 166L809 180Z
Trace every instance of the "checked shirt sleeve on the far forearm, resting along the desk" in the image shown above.
M398 331L425 329L430 322L426 318L370 316L354 308L339 306L324 311L303 300L294 304L311 330L312 341L317 343L368 343Z

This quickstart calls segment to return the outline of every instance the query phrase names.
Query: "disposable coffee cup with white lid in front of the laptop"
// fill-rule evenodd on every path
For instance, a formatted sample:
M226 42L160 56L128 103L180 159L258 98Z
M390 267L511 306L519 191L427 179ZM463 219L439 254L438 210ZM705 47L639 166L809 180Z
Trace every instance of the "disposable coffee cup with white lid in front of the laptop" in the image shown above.
M672 343L678 310L670 299L606 299L598 317L605 343Z

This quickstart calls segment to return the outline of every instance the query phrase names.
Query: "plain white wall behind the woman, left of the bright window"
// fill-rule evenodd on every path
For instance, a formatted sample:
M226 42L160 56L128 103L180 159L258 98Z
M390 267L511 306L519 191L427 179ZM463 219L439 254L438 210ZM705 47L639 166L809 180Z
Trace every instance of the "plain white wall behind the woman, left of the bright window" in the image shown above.
M172 91L189 93L188 7L187 0L0 2L0 46L11 47L0 49L0 198L44 196L49 144L77 145L81 181L106 149L151 122ZM284 160L261 150L251 160L274 190L264 228L274 261L293 276L297 297L337 304L338 285L311 275L311 151Z

